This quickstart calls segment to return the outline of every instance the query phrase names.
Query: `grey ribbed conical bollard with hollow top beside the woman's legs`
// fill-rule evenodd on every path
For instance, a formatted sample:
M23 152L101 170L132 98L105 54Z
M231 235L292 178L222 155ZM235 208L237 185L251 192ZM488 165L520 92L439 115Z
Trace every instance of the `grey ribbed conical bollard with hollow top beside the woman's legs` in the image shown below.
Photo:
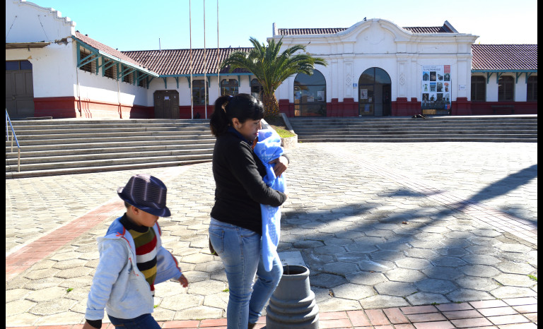
M267 329L318 329L319 306L305 266L286 265L266 309Z

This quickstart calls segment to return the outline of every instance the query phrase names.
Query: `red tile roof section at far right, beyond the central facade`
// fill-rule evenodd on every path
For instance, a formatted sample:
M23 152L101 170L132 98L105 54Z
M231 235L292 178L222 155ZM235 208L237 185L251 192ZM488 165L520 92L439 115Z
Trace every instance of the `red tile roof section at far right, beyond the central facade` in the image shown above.
M472 44L472 70L537 70L537 44Z

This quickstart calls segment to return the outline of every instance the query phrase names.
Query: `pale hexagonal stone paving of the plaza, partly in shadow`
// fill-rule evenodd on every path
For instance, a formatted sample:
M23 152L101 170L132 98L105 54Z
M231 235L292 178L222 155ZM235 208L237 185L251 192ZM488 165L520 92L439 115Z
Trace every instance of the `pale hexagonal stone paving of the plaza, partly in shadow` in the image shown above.
M321 312L537 298L537 143L299 143L288 155L279 251L300 251ZM226 316L202 163L6 180L6 326L83 323L95 239L139 172L168 186L163 244L190 282L158 285L153 316Z

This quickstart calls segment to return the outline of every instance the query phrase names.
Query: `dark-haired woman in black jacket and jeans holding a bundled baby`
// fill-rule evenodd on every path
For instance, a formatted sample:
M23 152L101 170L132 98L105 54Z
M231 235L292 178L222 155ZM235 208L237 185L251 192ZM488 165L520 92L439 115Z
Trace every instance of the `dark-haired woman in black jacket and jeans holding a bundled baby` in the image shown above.
M283 275L279 257L267 272L260 252L260 204L279 207L287 198L264 183L266 167L252 150L263 117L260 100L239 94L218 97L209 122L217 138L209 241L221 257L228 279L228 329L253 328ZM282 155L274 163L279 177L286 170L288 158Z

